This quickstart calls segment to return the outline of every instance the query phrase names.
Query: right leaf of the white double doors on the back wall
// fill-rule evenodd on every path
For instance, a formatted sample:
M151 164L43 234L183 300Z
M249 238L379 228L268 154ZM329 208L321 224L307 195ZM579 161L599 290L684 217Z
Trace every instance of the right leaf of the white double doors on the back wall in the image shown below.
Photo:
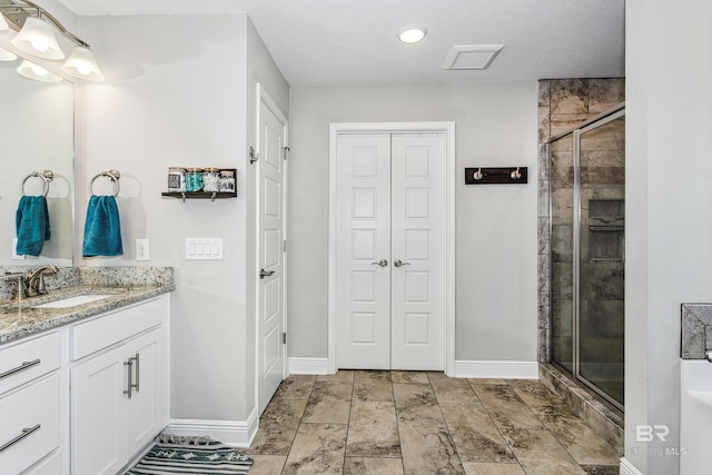
M445 137L394 135L392 151L390 367L443 369Z

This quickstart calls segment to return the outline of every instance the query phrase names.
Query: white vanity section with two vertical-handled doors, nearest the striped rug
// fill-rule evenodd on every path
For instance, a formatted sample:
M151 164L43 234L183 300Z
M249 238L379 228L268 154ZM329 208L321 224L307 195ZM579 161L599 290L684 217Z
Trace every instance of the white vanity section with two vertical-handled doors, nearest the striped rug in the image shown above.
M70 327L71 473L113 475L168 425L168 296Z

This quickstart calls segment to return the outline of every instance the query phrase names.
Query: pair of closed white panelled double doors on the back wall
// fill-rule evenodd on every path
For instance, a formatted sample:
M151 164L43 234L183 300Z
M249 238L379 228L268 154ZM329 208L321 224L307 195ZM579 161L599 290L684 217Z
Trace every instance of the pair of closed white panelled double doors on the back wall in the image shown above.
M336 157L338 367L444 369L444 135L339 135Z

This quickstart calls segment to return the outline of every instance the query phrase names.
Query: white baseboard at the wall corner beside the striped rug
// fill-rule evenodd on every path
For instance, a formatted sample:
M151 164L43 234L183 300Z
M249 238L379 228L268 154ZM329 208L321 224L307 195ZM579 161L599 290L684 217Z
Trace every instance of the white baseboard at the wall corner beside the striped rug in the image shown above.
M235 447L249 447L257 434L259 419L255 408L247 420L170 419L165 433L185 436L207 435Z

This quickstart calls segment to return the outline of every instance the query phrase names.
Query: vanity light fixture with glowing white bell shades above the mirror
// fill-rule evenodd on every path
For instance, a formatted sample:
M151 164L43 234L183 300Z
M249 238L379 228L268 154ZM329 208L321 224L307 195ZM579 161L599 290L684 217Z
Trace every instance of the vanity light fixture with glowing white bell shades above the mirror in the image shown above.
M55 37L52 28L55 27L65 38L76 44L69 58L61 66L61 70L77 79L103 80L97 58L89 49L89 44L68 31L42 7L30 0L6 0L4 3L0 2L0 11L7 17L10 26L19 30L11 40L16 48L38 58L63 59L65 53ZM59 76L57 77L59 78Z

